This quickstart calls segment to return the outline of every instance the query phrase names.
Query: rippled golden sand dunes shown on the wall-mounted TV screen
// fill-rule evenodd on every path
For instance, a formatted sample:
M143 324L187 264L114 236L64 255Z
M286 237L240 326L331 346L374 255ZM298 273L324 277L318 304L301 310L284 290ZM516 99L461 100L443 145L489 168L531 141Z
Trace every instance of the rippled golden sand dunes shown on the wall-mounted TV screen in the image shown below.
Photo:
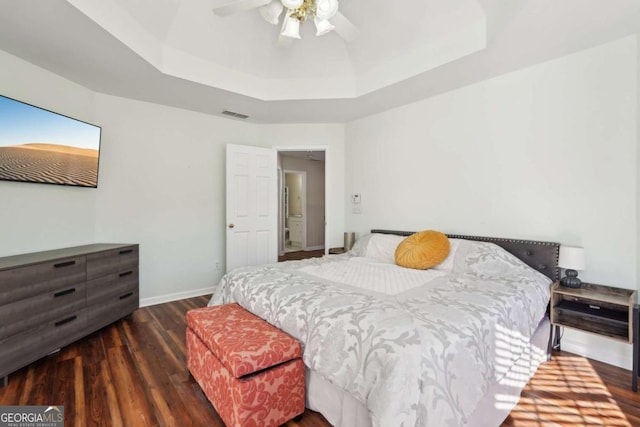
M0 179L95 187L98 151L56 144L0 147Z

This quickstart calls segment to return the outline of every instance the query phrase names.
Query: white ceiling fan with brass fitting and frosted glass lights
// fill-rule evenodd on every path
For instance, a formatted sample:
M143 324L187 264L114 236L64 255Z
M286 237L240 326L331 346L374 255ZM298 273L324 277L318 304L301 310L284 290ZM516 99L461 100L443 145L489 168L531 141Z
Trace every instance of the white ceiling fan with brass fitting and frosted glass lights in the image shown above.
M331 31L350 42L358 37L359 31L338 11L338 0L237 0L216 7L213 12L218 16L228 16L251 9L258 9L260 15L270 24L278 25L284 12L280 40L300 39L300 24L313 20L316 35L322 36Z

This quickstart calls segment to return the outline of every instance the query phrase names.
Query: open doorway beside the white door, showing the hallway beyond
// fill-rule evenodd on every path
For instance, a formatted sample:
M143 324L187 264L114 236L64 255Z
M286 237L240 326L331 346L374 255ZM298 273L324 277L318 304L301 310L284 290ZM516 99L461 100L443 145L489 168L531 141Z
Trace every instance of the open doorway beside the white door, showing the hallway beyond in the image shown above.
M278 151L279 254L325 250L324 150Z

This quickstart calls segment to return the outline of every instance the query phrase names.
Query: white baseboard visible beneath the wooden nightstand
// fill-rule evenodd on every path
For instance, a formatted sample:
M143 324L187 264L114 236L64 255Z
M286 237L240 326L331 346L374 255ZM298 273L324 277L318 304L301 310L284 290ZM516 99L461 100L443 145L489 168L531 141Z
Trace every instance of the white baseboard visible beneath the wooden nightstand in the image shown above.
M632 367L631 344L614 339L565 328L560 348L622 369L630 370Z

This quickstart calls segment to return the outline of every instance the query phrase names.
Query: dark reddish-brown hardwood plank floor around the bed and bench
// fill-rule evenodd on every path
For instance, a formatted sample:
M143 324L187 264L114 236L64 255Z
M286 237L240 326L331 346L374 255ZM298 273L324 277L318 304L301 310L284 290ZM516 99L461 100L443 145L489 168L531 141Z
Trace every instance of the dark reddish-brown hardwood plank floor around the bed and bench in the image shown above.
M0 405L64 405L67 427L222 427L185 364L184 315L207 300L139 309L32 363L0 388ZM558 352L503 426L640 426L640 393L630 380L630 371ZM307 410L286 426L329 424Z

